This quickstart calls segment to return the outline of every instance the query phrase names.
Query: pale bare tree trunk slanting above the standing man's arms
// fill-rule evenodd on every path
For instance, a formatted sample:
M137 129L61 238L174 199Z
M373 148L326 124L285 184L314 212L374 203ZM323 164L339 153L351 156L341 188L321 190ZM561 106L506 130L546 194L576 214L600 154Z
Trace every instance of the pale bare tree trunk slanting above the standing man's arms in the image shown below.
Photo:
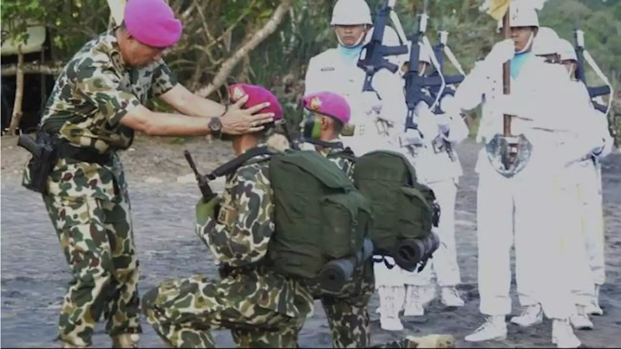
M215 75L212 83L207 85L207 87L198 89L196 94L201 97L207 97L214 93L216 89L218 89L229 77L230 73L233 71L233 68L242 60L243 57L247 56L248 53L252 52L258 45L263 42L268 36L273 34L278 28L278 25L284 19L284 16L288 13L289 8L291 8L292 0L283 0L278 7L276 7L276 11L271 16L270 20L263 25L263 28L258 30L250 40L242 45L242 47L238 48L238 50L233 53L233 55L227 59L224 63L222 63L222 67Z

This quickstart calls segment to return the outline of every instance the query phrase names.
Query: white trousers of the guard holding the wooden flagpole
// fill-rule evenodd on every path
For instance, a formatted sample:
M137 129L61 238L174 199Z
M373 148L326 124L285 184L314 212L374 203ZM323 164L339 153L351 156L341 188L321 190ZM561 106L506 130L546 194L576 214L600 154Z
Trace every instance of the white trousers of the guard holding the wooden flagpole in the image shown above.
M557 184L550 176L504 178L489 163L479 170L477 192L480 310L511 312L510 248L515 243L516 276L524 294L548 318L566 319L575 309L564 266ZM571 275L569 275L571 276ZM524 300L527 302L528 300Z

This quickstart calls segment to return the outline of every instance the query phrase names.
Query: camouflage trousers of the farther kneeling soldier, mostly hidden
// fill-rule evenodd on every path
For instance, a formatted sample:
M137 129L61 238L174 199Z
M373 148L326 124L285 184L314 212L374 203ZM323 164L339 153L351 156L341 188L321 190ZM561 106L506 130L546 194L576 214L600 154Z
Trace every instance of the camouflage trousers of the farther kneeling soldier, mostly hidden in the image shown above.
M371 345L369 299L374 289L372 260L359 267L353 281L340 291L332 294L314 289L314 296L321 300L328 318L334 348L368 348Z

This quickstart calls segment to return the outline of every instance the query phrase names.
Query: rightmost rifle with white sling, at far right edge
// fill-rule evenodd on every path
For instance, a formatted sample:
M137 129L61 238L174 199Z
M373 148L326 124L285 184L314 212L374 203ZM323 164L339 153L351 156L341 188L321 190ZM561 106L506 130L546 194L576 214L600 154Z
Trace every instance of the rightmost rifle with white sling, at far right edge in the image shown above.
M589 55L589 53L584 49L584 32L579 28L574 29L574 39L576 42L576 57L578 58L578 66L576 67L575 72L576 79L582 81L582 83L587 86L587 91L589 91L589 97L591 97L591 99L595 97L610 95L608 106L604 106L602 104L599 104L597 101L591 100L595 109L601 111L604 114L608 114L608 112L610 111L610 102L612 102L612 87L605 78L604 73L599 70L599 67L591 58L591 55ZM587 61L589 65L591 65L591 68L593 68L593 70L596 71L597 75L599 75L600 78L604 80L604 82L606 83L604 86L589 87L586 81L584 58L587 58Z

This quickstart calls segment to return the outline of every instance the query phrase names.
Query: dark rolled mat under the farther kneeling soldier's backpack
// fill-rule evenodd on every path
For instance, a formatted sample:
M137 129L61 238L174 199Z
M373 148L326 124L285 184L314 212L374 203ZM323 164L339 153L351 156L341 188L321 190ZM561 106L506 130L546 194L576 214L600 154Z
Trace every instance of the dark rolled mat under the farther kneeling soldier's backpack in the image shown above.
M440 247L440 237L434 232L421 239L408 239L397 243L394 261L402 269L414 271L418 263L433 255Z

